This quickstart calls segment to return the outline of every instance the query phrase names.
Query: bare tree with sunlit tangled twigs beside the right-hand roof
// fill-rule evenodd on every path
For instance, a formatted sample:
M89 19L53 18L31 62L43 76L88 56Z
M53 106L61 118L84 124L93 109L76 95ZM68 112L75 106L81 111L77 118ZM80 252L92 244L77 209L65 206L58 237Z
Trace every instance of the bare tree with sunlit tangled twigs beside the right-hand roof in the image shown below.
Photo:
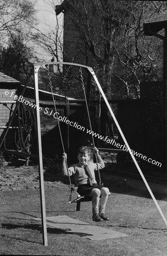
M165 7L165 5L164 5ZM115 45L119 60L119 71L114 72L127 89L127 97L131 90L139 97L141 81L157 81L162 79L162 40L146 38L143 23L153 14L158 14L163 5L155 1L131 1L131 22L123 23L121 44Z

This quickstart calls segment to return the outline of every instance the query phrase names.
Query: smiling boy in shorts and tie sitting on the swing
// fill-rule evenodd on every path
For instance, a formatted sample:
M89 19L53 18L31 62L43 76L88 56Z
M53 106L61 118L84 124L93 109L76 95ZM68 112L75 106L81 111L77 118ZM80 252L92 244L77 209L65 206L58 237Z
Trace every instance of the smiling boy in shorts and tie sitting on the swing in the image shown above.
M89 163L90 159L90 148L87 146L82 146L78 149L78 164L73 164L66 169L65 160L67 158L66 154L62 154L62 175L68 176L73 175L78 185L77 192L81 196L91 196L92 197L92 211L93 211L93 221L103 221L110 220L105 214L105 207L109 195L108 188L102 187L97 184L95 180L94 171L97 171L105 167L101 156L99 155L98 149L95 147L94 152L97 154L98 167L96 163ZM87 168L88 167L88 168ZM98 209L99 199L100 205Z

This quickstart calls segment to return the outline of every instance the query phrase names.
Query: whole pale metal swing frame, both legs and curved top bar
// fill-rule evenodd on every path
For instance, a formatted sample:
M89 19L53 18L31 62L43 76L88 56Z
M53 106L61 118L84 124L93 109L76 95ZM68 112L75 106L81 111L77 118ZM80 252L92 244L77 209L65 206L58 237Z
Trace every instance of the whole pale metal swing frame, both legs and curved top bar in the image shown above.
M137 163L135 156L132 154L132 151L130 150L130 146L128 145L128 142L126 140L126 138L124 137L124 134L122 132L122 129L119 126L119 123L114 115L114 112L112 112L111 106L107 101L107 98L105 96L105 93L103 92L103 89L101 87L101 85L99 84L99 81L97 79L97 77L95 76L95 73L93 71L93 68L91 67L87 67L86 65L81 65L81 64L76 64L76 63L66 63L66 62L56 62L56 61L49 61L49 62L45 62L45 63L37 63L34 64L34 76L35 76L35 104L37 106L39 106L39 87L38 87L38 71L40 67L46 67L47 65L71 65L71 66L77 66L80 68L85 68L87 69L87 71L93 76L94 81L96 82L99 92L101 92L102 96L103 96L103 100L105 101L108 110L110 111L110 114L112 116L112 118L114 119L115 125L117 126L120 135L122 136L122 139L124 141L124 144L126 145L126 147L129 149L128 151L130 152L131 158L133 160L133 162L135 163L135 166L137 168L137 170L139 171L139 174L141 176L141 178L143 179L154 203L156 204L156 207L158 209L158 211L161 214L162 219L164 220L166 226L167 226L167 220L164 216L164 213L162 213L162 210L160 208L160 206L157 203L157 200L155 199L155 196L153 195L151 188L149 187L147 180L145 179L143 172L141 171L139 164ZM45 211L45 195L44 195L44 176L43 176L43 158L42 158L42 150L41 150L41 131L40 131L40 112L39 110L36 108L36 121L37 121L37 155L38 155L38 160L39 160L39 181L40 181L40 203L41 203L41 222L42 222L42 228L43 228L43 244L45 246L48 245L48 240L47 240L47 222L46 222L46 211Z

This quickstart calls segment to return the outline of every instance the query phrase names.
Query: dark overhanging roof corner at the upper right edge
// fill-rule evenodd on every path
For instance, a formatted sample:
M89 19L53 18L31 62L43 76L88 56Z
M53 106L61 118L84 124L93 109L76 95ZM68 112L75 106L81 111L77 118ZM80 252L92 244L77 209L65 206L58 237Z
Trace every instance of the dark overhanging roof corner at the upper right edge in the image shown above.
M162 28L167 27L167 10L153 16L148 22L143 24L143 27L144 34L149 36L152 36L162 30Z

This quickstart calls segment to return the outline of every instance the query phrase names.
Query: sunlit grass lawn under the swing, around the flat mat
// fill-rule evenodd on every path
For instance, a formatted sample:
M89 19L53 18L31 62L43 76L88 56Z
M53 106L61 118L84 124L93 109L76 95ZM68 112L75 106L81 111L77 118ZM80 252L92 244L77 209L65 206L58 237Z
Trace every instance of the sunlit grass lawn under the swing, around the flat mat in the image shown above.
M14 173L15 170L10 172L11 180ZM17 181L22 180L23 184L21 173L19 176L17 172ZM8 185L1 190L1 255L167 255L167 229L147 191L112 185L106 208L111 220L96 223L91 220L91 202L81 203L80 212L76 212L76 204L68 203L68 185L56 178L52 182L45 181L48 217L66 215L128 236L92 241L75 233L48 227L48 246L44 246L41 226L34 220L34 217L41 217L37 172L29 168L23 173L24 176L26 173L28 177L32 176L34 187L30 184L27 187L29 180L26 180L27 183L20 190L18 187L14 189L13 184L10 186L12 189L7 189ZM7 176L9 173L6 171ZM158 200L158 204L167 217L167 202Z

